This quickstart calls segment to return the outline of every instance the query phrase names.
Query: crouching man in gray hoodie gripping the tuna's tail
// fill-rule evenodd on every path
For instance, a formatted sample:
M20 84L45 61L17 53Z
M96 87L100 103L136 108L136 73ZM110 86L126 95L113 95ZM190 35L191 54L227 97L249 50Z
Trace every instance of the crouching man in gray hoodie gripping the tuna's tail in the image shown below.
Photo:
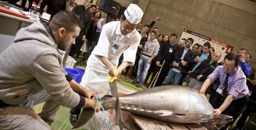
M35 22L17 32L0 54L0 129L51 129L59 105L99 110L95 93L66 74L58 51L74 44L80 28L77 15L61 11L49 25ZM38 116L33 106L41 102Z

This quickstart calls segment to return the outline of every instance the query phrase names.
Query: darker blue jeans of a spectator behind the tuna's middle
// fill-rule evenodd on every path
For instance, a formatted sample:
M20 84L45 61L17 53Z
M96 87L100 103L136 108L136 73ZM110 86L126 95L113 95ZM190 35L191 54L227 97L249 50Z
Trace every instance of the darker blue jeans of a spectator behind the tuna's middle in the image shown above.
M173 71L172 69L173 68L170 68L170 70L168 71L168 75L164 79L164 82L163 82L164 85L169 85L169 84L177 85L177 84L179 84L179 81L182 78L182 73L177 73L176 71ZM173 82L171 83L172 80L173 80Z

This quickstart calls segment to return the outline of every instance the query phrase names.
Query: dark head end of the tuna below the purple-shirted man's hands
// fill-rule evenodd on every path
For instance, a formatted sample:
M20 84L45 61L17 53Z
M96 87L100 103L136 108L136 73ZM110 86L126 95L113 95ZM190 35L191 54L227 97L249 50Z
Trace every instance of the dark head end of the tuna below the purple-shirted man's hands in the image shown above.
M221 114L218 118L213 119L208 123L202 123L203 126L207 129L224 129L227 126L230 126L233 121L232 116Z

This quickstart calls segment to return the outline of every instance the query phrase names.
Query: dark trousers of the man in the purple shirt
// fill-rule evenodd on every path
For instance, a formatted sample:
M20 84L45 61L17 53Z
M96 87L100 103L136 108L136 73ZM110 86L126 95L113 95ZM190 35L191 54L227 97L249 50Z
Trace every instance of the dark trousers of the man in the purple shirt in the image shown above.
M226 98L223 97L223 95L213 90L211 91L209 102L213 108L219 108L225 99ZM242 110L244 110L248 100L249 96L245 95L241 99L233 100L231 104L229 104L228 108L224 110L223 114L233 116L233 121L229 125L232 125L234 121L236 121L237 117L242 113Z

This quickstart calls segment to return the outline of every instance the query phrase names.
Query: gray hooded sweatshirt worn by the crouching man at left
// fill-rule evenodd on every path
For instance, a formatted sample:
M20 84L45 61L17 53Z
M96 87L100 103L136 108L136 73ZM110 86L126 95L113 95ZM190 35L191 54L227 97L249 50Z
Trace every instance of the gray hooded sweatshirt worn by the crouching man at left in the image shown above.
M45 91L59 104L74 108L80 102L66 80L54 39L40 22L20 29L14 43L0 54L0 100L25 104Z

